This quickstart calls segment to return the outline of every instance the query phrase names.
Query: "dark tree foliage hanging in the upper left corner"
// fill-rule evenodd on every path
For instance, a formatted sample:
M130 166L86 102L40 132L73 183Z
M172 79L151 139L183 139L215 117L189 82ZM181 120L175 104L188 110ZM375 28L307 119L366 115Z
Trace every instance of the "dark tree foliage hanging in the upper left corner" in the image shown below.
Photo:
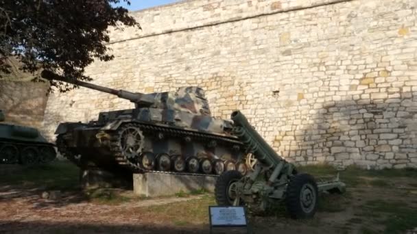
M128 4L128 0L126 1ZM0 0L0 78L10 59L29 73L51 70L71 79L89 80L84 69L108 61L108 27L138 27L120 0ZM65 91L70 86L51 81Z

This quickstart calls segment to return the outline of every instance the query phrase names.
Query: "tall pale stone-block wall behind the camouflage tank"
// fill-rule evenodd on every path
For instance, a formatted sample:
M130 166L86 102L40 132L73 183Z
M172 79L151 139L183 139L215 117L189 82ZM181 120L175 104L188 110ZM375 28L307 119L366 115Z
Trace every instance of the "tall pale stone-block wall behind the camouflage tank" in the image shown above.
M214 116L241 109L289 161L417 166L414 0L194 0L133 12L111 30L95 83L138 92L202 86ZM128 101L80 88L49 99L49 138Z

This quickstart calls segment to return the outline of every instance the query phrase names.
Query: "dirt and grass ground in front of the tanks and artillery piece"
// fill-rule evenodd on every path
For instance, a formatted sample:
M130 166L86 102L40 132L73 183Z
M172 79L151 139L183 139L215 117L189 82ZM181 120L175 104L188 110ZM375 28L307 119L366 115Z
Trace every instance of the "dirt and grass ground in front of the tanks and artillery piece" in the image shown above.
M343 195L322 195L311 220L291 220L283 210L250 216L251 229L254 233L406 233L417 227L414 173L411 178L358 175L357 179L367 182L353 182ZM215 205L212 194L144 199L120 191L102 199L62 190L58 198L49 200L41 196L48 189L38 183L0 181L0 233L208 233L208 205Z

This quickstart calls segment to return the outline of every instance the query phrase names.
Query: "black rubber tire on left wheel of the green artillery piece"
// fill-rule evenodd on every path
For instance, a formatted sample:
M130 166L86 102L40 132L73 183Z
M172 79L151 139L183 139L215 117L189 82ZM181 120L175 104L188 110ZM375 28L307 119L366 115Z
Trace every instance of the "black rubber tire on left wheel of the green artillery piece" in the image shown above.
M233 205L228 198L228 187L230 182L239 181L242 177L242 174L237 170L227 170L217 178L214 189L217 205Z

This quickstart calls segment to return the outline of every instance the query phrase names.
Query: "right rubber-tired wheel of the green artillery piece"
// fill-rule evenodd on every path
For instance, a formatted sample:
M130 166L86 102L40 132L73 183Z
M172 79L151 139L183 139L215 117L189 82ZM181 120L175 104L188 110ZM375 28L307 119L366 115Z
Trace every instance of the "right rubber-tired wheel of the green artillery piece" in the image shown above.
M318 187L310 174L297 174L287 185L285 205L291 218L312 218L318 208Z

